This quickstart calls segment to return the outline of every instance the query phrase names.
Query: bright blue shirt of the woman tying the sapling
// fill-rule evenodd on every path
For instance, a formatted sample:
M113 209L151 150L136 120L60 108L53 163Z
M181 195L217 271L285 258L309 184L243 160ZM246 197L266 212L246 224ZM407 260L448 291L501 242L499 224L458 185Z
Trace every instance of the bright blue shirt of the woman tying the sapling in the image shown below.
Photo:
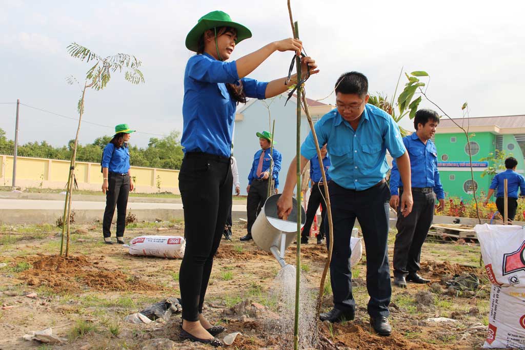
M237 63L223 62L208 54L192 56L184 72L183 131L186 152L229 157L237 102L225 83L238 83ZM266 82L240 79L247 97L264 99Z

